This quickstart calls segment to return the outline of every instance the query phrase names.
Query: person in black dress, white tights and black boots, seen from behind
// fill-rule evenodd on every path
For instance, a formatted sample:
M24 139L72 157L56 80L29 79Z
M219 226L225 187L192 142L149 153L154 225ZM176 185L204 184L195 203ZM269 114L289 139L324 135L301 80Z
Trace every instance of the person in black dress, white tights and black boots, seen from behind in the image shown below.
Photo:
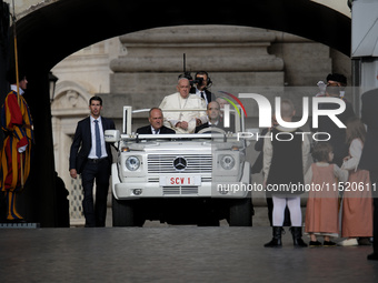
M291 122L296 111L289 100L281 101L281 118L285 122ZM291 184L304 184L304 172L308 162L310 143L307 137L294 134L301 132L300 129L289 129L281 125L272 128L266 135L263 142L263 175L267 191L271 191L273 201L272 234L266 247L281 246L282 224L285 209L289 208L291 233L294 245L305 247L307 244L301 239L301 210L300 194L304 191L297 190ZM281 141L278 135L291 135L288 140ZM268 137L272 137L271 140ZM284 186L285 185L285 186Z

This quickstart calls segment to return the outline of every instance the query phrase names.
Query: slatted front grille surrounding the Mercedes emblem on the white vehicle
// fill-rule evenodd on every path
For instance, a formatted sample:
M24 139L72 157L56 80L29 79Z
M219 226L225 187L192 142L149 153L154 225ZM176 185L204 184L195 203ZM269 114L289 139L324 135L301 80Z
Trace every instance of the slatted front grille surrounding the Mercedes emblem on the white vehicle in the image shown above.
M187 162L183 170L177 170L173 161L183 158ZM212 155L211 154L149 154L148 173L211 173Z

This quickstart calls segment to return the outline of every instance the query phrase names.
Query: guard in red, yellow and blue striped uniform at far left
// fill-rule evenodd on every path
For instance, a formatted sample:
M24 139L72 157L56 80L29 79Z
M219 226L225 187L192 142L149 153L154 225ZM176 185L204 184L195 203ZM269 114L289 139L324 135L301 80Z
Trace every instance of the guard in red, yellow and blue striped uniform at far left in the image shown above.
M33 125L30 110L22 94L27 89L27 77L19 75L11 84L1 107L1 129L4 133L0 152L0 189L7 199L7 220L26 222L17 212L16 196L24 188L30 172L30 153L33 143ZM14 79L16 81L16 79Z

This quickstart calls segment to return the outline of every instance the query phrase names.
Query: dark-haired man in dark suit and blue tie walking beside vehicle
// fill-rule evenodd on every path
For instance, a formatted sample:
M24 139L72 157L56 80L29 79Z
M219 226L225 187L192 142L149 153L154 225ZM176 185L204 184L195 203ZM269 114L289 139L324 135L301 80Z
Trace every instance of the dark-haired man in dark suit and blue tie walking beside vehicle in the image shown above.
M89 100L90 117L78 122L70 151L70 175L76 179L81 174L84 198L82 209L86 226L105 226L107 198L111 172L110 143L105 142L103 132L115 130L115 122L100 115L102 100L92 97ZM93 183L96 179L96 204Z

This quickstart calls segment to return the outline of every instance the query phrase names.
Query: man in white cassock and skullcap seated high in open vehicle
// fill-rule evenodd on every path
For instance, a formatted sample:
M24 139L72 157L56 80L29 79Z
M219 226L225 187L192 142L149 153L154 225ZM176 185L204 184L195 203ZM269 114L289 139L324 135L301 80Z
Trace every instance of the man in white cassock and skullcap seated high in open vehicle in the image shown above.
M206 102L196 94L190 94L190 82L180 78L177 84L178 92L165 97L160 109L165 115L165 125L177 133L193 133L196 127L207 122ZM191 109L191 111L169 111ZM195 110L193 110L195 109ZM198 109L198 111L196 111Z

